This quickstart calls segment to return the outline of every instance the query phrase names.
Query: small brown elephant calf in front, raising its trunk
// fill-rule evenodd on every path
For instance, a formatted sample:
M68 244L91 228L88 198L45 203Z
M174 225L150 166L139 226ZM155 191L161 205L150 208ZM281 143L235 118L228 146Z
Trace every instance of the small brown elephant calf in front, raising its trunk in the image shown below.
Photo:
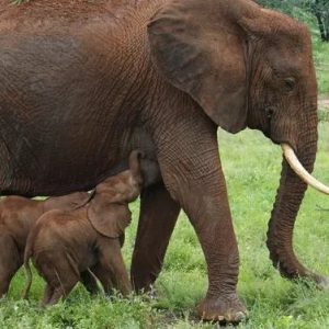
M123 295L129 293L120 238L131 222L128 202L140 192L139 157L138 151L133 151L129 169L97 185L84 206L69 212L52 211L37 220L25 249L25 297L32 281L30 258L46 281L43 305L66 297L86 271L100 280L105 293L113 287Z

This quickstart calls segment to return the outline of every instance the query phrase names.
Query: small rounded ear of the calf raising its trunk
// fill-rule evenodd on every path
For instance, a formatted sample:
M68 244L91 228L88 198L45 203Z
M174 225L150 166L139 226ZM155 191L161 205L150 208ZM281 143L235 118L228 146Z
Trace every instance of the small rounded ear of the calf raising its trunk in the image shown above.
M106 194L95 195L88 206L92 227L109 238L120 238L129 225L132 213L127 204L110 203Z

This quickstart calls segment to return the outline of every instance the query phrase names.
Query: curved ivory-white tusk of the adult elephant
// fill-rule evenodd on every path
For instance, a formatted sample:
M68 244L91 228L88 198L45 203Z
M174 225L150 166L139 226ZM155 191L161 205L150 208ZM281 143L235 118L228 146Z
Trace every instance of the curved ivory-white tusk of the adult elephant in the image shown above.
M287 144L281 144L283 155L291 168L295 171L295 173L308 185L316 189L319 192L329 195L329 188L316 180L311 174L307 172L307 170L302 166L299 160L297 159L294 150Z

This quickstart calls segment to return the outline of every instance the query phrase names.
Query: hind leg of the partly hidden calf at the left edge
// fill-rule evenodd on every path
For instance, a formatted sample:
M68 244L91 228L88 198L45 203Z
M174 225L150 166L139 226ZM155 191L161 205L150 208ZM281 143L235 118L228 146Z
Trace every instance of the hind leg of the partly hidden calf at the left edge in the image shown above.
M13 238L0 236L0 297L8 293L10 282L22 265L22 259Z

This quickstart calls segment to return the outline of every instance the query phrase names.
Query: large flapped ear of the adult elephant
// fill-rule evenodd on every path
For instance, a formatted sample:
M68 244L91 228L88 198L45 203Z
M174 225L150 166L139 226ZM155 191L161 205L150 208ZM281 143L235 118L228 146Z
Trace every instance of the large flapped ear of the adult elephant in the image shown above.
M230 133L247 126L243 11L241 1L173 0L148 24L160 73Z

